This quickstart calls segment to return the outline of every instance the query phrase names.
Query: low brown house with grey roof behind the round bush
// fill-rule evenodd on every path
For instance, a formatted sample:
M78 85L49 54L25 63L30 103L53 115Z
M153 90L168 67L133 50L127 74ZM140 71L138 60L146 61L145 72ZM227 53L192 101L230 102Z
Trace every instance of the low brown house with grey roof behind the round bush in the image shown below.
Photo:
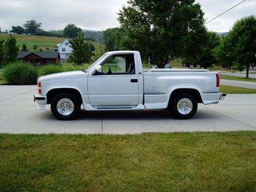
M59 63L59 52L55 51L20 51L17 55L19 60L33 64Z

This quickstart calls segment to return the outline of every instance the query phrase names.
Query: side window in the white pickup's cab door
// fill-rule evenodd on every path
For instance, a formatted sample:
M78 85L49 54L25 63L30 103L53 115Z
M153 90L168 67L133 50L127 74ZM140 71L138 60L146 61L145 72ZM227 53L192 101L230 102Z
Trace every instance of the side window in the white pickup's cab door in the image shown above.
M135 74L134 55L113 55L101 67L103 74Z

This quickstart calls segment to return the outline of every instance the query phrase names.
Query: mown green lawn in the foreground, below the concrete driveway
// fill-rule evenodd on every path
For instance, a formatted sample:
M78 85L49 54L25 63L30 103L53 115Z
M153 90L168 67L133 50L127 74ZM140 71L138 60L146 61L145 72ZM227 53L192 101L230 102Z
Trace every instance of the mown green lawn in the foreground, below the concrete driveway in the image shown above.
M0 134L1 191L254 191L256 132Z

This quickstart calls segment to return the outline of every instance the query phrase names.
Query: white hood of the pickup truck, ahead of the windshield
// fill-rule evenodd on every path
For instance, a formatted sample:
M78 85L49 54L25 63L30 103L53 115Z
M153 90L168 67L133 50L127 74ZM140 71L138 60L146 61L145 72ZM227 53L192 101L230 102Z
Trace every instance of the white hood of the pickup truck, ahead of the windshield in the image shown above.
M63 73L54 73L50 75L40 76L38 81L50 80L50 79L59 79L59 78L71 78L71 77L87 77L88 73L82 71L69 71Z

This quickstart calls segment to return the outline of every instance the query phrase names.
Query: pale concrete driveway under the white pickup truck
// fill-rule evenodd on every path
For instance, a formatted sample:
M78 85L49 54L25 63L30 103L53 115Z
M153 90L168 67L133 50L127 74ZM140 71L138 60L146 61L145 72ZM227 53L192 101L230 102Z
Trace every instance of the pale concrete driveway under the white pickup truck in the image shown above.
M38 111L36 86L0 86L0 133L134 134L142 132L256 131L256 94L229 94L219 104L198 107L189 120L168 110L81 111L78 119L59 121L50 105Z

